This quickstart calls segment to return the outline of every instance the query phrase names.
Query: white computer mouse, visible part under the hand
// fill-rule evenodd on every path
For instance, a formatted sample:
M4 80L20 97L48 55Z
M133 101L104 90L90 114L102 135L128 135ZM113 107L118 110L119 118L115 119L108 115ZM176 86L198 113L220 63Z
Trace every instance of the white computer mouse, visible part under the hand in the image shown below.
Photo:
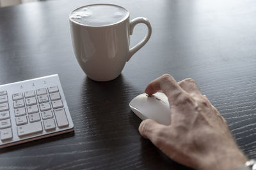
M151 118L159 124L171 124L171 112L168 98L162 92L157 92L153 96L148 94L140 94L134 97L130 102L131 110L141 120Z

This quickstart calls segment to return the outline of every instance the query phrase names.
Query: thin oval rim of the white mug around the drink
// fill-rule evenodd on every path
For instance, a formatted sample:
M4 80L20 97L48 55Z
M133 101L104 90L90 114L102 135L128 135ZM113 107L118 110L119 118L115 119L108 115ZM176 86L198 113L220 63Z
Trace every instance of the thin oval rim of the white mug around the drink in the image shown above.
M111 6L117 6L117 7L119 7L119 8L123 8L125 11L127 11L127 15L126 15L122 20L119 20L118 22L114 22L113 24L108 24L108 25L84 25L84 24L79 24L79 23L75 22L74 20L72 20L72 19L70 18L71 13L74 12L74 11L76 11L76 10L78 10L79 8L84 8L84 7L86 7L86 6L93 6L93 5L111 5ZM118 25L118 24L124 22L125 20L127 20L127 18L129 18L129 16L130 16L130 12L129 12L128 10L126 10L126 9L125 9L124 7L122 7L122 6L119 6L119 5L116 5L116 4L104 4L104 3L102 3L102 4L88 4L88 5L80 6L80 7L76 8L76 9L70 11L70 13L69 13L69 15L68 15L68 19L69 19L70 22L72 22L72 23L74 23L74 24L76 24L76 25L83 26L83 27L93 27L93 28L99 27L99 28L102 28L102 27L110 27L110 26Z

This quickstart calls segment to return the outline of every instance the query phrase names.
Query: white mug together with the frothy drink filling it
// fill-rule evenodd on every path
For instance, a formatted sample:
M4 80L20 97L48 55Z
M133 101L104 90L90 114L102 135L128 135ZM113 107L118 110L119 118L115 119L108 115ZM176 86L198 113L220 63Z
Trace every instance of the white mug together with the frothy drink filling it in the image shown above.
M129 11L114 4L92 4L69 15L72 44L84 73L96 81L115 79L151 35L147 18L129 20ZM148 27L147 35L130 48L130 35L136 24Z

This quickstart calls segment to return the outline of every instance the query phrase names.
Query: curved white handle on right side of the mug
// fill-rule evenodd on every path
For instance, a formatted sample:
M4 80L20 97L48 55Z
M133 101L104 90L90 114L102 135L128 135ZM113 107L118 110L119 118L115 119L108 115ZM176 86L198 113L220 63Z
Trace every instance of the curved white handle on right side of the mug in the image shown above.
M139 24L139 23L143 23L143 24L146 24L147 27L148 27L148 33L147 35L135 46L133 46L131 49L130 49L130 52L129 52L129 56L128 56L128 59L127 61L129 61L132 57L132 55L134 55L134 53L138 52L138 50L140 50L140 48L142 46L145 45L145 43L147 43L148 39L150 38L151 36L151 32L152 32L152 28L151 28L151 25L149 23L149 20L147 18L144 18L144 17L138 17L138 18L134 18L133 20L131 20L130 22L130 35L132 35L132 32L133 32L133 29L134 29L134 26Z

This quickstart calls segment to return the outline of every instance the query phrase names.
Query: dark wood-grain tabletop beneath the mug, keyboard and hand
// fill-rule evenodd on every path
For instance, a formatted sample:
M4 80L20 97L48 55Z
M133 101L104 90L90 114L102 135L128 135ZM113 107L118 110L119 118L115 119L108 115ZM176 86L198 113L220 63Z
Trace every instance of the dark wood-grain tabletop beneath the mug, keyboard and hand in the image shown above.
M113 81L92 81L75 59L68 13L114 3L147 17L148 43ZM138 25L134 45L145 35ZM0 169L187 169L138 133L129 102L164 73L191 77L256 158L256 3L253 0L45 1L0 8L0 84L58 73L74 133L0 150Z

